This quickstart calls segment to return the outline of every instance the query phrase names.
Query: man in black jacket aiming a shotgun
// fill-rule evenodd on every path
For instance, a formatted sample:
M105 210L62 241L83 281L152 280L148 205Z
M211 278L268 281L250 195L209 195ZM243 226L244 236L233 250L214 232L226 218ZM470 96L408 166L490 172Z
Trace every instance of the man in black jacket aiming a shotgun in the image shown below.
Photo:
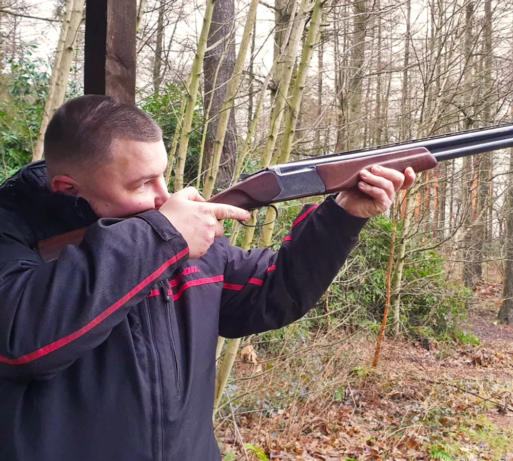
M170 196L162 132L132 106L68 101L45 159L0 187L2 460L219 460L218 335L302 317L367 218L415 180L411 169L362 172L362 192L309 207L278 253L245 252L219 220L249 214L193 188ZM55 261L31 249L84 226Z

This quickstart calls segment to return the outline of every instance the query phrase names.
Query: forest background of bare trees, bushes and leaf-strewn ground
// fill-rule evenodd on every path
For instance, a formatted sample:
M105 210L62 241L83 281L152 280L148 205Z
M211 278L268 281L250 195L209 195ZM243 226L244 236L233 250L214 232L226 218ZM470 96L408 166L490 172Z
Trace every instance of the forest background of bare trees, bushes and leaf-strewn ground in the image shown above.
M163 129L170 191L513 121L511 7L138 0L136 104ZM83 93L86 14L0 0L0 180L42 158L49 117ZM225 460L511 459L512 170L513 150L441 162L369 221L304 319L220 338ZM226 235L278 249L301 206Z

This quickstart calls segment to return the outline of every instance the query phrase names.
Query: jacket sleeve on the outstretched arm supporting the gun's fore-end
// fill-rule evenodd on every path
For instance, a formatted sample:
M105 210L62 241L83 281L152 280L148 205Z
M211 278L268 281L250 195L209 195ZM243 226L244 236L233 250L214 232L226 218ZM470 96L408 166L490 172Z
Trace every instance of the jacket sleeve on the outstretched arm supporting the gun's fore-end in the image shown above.
M329 196L303 209L277 253L229 246L220 335L240 338L303 317L337 275L366 222Z

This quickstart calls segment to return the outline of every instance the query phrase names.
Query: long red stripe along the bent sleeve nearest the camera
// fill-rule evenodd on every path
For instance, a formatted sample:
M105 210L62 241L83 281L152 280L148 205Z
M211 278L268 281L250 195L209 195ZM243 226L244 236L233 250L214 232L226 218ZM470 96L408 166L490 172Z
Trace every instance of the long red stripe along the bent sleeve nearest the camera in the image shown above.
M18 357L17 359L8 359L7 357L2 357L0 355L0 362L7 363L9 365L22 365L25 363L32 362L34 360L40 359L44 357L44 355L49 354L50 352L54 352L57 349L60 349L63 346L71 343L72 341L80 338L87 332L91 331L96 325L103 322L107 319L112 313L114 313L117 309L127 303L131 298L133 298L137 293L139 293L143 288L148 286L151 282L157 279L169 266L173 265L176 261L182 259L185 255L189 253L189 248L184 249L179 254L173 256L171 259L168 259L162 266L160 266L157 270L154 271L151 275L146 277L141 283L132 288L123 298L116 301L112 306L104 310L99 316L91 320L88 324L84 325L80 330L77 330L60 340L57 340L53 343L48 344L45 347L42 347L39 350L34 352L30 352L23 357Z

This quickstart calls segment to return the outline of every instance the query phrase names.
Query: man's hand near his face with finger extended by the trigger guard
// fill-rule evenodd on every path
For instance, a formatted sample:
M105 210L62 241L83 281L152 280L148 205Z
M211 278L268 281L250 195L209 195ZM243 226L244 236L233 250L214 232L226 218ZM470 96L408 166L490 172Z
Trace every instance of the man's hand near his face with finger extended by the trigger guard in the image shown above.
M207 253L214 238L224 232L222 219L247 221L251 214L245 209L223 203L208 203L194 187L175 192L159 208L189 245L189 258Z

